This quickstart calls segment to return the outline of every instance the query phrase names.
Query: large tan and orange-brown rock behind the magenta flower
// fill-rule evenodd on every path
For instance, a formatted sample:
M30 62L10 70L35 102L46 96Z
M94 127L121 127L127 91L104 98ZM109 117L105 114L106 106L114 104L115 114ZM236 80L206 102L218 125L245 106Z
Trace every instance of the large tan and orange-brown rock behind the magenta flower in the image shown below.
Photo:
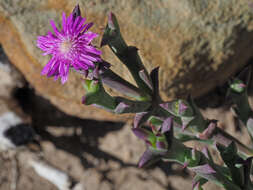
M44 97L60 109L80 117L121 119L81 105L84 90L80 76L71 73L65 85L40 75L48 57L36 48L36 38L50 28L49 19L60 21L62 11L71 12L76 1L1 0L0 43L13 64ZM165 98L195 97L223 83L252 56L253 13L250 1L238 0L80 0L83 16L95 22L102 34L108 11L113 11L130 45L136 45L150 70L161 67L161 90ZM129 74L108 48L103 58L125 78Z

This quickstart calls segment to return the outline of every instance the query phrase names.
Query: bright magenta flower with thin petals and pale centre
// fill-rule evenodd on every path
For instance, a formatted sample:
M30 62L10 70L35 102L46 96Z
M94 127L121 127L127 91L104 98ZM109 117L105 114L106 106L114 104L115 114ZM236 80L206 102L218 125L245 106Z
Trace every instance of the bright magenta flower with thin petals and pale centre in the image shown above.
M63 13L61 31L56 28L54 21L50 21L54 33L49 31L46 36L39 36L37 39L37 46L44 51L43 55L52 55L51 60L43 68L42 75L54 76L55 80L61 77L64 84L68 79L70 68L82 73L93 69L94 62L101 61L101 51L91 45L91 41L98 34L88 32L93 23L84 24L85 20L75 12L68 18Z

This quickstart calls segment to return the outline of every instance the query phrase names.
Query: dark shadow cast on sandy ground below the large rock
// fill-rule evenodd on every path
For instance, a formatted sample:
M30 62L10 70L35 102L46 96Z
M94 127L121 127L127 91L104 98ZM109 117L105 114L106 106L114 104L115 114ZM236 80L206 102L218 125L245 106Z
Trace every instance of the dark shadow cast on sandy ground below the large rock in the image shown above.
M110 132L122 130L125 123L80 119L65 114L48 100L36 95L34 90L29 88L28 84L23 88L16 89L14 97L24 112L31 116L32 124L42 141L50 141L57 149L64 150L78 157L85 169L96 168L96 165L92 161L86 159L86 155L91 155L106 163L109 161L116 162L120 165L121 169L137 167L136 164L124 162L117 156L101 150L98 146L100 138ZM52 126L74 128L76 131L73 135L54 136L48 131ZM180 175L184 178L189 177L189 174L185 170L172 169L172 165L171 163L160 161L155 166L151 166L145 170L147 170L146 172L151 172L154 167L159 167L166 176ZM113 180L108 177L110 169L99 170L99 172L102 175L101 180L105 180L113 185ZM150 180L142 176L137 177L142 181ZM170 184L164 186L158 177L152 177L152 180L162 186L163 189L173 189Z

